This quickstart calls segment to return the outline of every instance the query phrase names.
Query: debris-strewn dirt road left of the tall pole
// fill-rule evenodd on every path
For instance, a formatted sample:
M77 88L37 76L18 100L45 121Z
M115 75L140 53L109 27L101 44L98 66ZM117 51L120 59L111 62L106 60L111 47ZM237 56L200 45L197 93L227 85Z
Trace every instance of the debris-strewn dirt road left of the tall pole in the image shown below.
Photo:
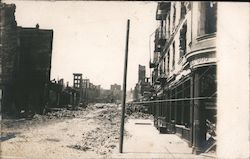
M1 158L109 158L117 151L119 126L115 104L59 111L31 121L3 120L1 134L9 139L1 142Z

